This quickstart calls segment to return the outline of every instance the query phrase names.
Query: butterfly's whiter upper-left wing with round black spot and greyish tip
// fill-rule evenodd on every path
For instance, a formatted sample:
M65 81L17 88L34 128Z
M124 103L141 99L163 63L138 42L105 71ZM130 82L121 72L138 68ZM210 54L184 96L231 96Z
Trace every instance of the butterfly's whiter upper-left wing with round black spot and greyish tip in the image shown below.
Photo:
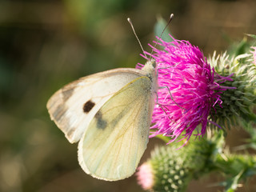
M92 74L58 90L47 102L50 118L69 142L78 142L102 105L142 70L120 68Z

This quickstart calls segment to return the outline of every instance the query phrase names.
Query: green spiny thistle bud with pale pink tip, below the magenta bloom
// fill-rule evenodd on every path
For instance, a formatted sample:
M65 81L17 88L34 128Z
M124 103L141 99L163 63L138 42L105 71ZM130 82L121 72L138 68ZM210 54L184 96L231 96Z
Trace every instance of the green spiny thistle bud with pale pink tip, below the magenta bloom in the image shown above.
M176 153L173 146L154 149L150 160L138 167L136 174L138 184L143 190L154 192L186 190L192 174L183 164L186 158L178 155L182 154L181 150Z

